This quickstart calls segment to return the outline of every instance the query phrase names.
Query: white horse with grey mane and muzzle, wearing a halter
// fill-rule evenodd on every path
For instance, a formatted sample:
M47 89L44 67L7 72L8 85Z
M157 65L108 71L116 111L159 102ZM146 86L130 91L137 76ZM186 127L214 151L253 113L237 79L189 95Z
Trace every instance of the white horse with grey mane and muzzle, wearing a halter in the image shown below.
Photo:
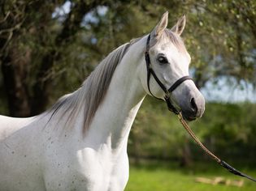
M180 34L185 18L167 29L165 13L150 33L152 69L170 87L189 74ZM147 84L147 36L121 45L89 75L37 117L0 116L0 190L123 190L128 181L128 134L147 94L163 99L156 79ZM150 91L149 91L150 87ZM204 99L192 80L172 97L187 119L201 117Z

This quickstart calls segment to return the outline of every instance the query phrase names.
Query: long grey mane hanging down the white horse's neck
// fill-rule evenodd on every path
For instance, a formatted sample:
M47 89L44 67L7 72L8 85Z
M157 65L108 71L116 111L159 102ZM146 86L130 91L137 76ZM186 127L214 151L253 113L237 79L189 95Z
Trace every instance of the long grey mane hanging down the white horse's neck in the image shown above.
M111 83L116 66L121 62L124 54L127 53L128 48L133 43L134 42L131 41L112 51L100 62L95 70L89 74L89 77L85 79L85 82L78 90L61 97L56 104L47 111L47 113L51 114L50 120L58 114L59 121L60 119L62 121L63 119L67 119L65 125L72 126L72 124L74 124L73 122L76 120L76 115L84 108L83 131L85 133L86 130L89 129L89 125L93 120L98 106L106 96L106 91Z

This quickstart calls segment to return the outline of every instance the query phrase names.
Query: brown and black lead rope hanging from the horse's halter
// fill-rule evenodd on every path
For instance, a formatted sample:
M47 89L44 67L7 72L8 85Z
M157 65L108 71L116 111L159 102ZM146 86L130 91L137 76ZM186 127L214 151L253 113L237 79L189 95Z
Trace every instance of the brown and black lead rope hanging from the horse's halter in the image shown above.
M235 175L237 175L237 176L243 176L243 177L245 177L245 178L248 178L249 180L253 180L254 182L256 182L256 180L255 180L254 178L252 178L252 177L250 177L250 176L248 176L248 175L245 175L245 174L242 173L242 172L237 171L236 168L232 168L231 165L229 165L229 164L226 163L225 161L219 159L219 158L218 158L217 156L215 156L212 152L210 152L210 151L206 148L206 146L204 146L204 145L202 144L202 142L200 142L200 140L197 138L197 136L193 133L193 130L190 129L190 127L189 127L189 125L187 124L187 122L184 121L184 118L183 118L181 112L179 112L179 113L177 114L177 116L179 117L179 120L180 120L181 125L184 126L184 129L187 130L187 132L189 133L189 135L193 138L193 140L194 140L195 142L197 142L197 145L200 146L200 147L202 148L202 150L206 152L207 155L210 155L210 157L211 157L212 159L215 159L215 161L216 161L217 163L219 163L223 168L226 168L229 172L231 172L231 173L233 173L233 174L235 174Z

